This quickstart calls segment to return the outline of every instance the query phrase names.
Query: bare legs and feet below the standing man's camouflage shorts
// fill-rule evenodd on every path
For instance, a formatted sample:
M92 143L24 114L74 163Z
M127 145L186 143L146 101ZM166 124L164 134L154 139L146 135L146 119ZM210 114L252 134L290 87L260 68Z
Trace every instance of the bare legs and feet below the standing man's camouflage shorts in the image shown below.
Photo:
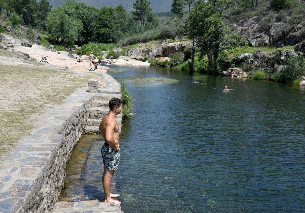
M111 187L111 178L113 177L113 173L115 170L109 170L104 167L104 173L102 177L103 181L103 187L104 187L104 194L105 194L105 201L104 202L110 202L117 205L120 205L120 201L113 200L111 197L119 197L119 194L112 194L110 193L110 187Z

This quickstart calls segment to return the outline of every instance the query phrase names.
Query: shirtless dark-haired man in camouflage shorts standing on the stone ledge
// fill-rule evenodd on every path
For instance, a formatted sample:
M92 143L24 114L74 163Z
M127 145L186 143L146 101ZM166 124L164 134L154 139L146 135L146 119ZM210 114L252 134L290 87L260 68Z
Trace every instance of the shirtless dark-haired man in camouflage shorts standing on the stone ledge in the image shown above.
M119 194L110 193L111 178L113 173L117 170L120 161L119 148L119 126L115 117L121 113L122 100L112 98L109 101L109 113L102 118L99 124L99 131L101 132L105 143L102 146L102 158L104 163L103 173L103 187L105 193L105 201L107 203L114 203L120 205L121 202L113 200L113 197L119 197Z

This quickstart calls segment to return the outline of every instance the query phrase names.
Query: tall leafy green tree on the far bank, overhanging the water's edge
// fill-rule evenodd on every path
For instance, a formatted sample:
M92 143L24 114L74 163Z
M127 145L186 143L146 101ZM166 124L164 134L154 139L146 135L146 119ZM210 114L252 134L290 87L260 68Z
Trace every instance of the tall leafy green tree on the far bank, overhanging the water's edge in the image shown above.
M223 12L231 5L234 5L233 0L198 0L186 21L188 30L196 39L200 56L207 56L213 73L218 72L217 59L221 52L236 46L239 38L226 35L230 28L225 25Z

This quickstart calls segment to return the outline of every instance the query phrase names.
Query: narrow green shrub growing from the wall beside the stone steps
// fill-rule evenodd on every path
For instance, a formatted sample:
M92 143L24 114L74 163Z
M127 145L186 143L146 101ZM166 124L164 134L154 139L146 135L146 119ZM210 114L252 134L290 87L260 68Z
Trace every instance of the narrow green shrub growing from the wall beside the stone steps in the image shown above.
M121 82L120 87L122 92L122 104L123 104L122 120L128 120L131 119L134 115L133 113L134 100L132 99L132 96L126 89L124 82Z

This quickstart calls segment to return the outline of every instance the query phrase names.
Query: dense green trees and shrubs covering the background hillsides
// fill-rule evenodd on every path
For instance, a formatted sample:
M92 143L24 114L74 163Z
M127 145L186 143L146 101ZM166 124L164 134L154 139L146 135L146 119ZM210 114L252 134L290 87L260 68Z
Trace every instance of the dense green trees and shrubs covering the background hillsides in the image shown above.
M171 11L154 13L149 1L136 0L132 5L134 10L128 13L123 5L96 9L66 0L52 8L47 0L0 0L0 21L13 27L26 25L44 35L48 44L63 47L92 42L128 46L183 38L192 42L182 61L187 61L190 72L205 60L208 66L205 70L217 74L220 59L228 50L252 45L246 35L236 30L245 20L255 18L254 33L273 38L274 43L267 46L283 47L303 41L304 3L303 0L173 0ZM296 60L305 65L303 58Z

